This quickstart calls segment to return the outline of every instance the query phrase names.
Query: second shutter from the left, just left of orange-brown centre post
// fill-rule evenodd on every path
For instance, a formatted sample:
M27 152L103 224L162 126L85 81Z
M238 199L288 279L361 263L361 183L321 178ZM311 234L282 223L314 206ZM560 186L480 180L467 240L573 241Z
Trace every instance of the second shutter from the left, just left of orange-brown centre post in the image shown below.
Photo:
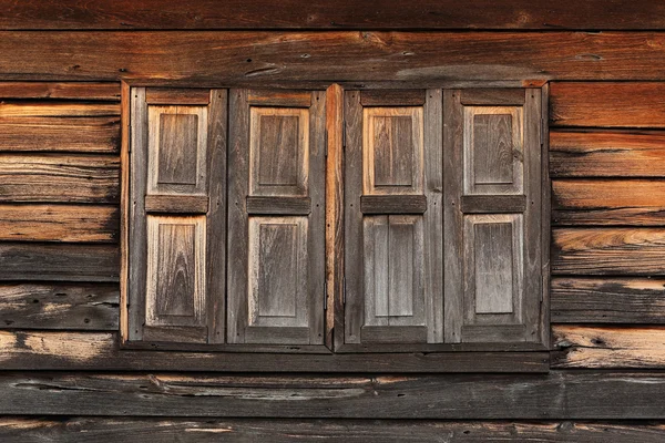
M325 93L231 92L229 343L321 344Z

